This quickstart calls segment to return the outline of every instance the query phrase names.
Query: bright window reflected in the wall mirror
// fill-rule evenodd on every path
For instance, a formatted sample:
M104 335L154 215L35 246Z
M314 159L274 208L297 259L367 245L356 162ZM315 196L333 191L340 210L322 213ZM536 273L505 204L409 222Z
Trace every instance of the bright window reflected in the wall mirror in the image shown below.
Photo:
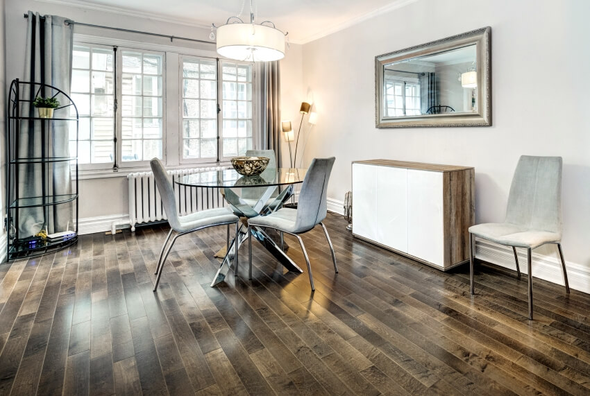
M420 83L416 78L385 80L387 117L420 115Z

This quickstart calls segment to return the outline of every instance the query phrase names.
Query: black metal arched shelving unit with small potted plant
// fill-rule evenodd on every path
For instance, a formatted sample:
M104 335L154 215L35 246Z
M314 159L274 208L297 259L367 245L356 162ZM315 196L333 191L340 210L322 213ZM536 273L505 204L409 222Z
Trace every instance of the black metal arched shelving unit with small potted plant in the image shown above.
M60 101L53 118L38 117L33 106L37 96ZM5 225L10 261L55 252L78 241L78 107L57 87L16 79L10 84L7 110ZM74 152L54 156L62 150L54 145L56 136L66 132ZM64 178L57 179L57 172ZM31 221L33 226L25 225ZM49 239L37 235L39 231L69 234Z

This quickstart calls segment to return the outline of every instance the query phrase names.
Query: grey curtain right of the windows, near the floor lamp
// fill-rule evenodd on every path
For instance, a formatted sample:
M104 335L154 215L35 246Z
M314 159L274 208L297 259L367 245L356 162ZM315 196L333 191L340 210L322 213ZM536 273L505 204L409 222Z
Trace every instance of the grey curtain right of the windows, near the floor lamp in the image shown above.
M277 165L283 166L280 155L280 64L260 62L260 141L258 147L274 150Z

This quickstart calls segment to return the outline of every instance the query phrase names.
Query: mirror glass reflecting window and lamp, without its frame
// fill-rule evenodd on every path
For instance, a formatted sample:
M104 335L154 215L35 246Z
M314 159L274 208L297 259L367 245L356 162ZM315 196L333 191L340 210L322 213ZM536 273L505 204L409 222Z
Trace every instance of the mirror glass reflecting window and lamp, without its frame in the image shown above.
M383 65L385 117L478 112L477 46Z

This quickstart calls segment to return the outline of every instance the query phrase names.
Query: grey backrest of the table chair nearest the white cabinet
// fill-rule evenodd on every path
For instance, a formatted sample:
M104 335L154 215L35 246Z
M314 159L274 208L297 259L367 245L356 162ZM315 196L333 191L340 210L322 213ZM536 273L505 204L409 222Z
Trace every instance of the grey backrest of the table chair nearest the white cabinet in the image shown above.
M307 169L305 180L303 180L301 193L299 193L295 232L311 230L326 218L328 180L330 180L335 160L335 157L312 160L310 168Z

